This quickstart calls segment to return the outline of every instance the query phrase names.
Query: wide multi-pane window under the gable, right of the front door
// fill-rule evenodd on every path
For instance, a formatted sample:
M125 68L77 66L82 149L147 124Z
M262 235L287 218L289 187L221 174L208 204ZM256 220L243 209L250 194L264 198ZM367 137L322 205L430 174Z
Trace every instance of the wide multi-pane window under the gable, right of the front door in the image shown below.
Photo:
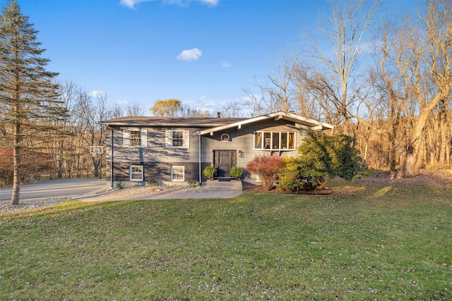
M254 149L295 149L295 133L256 132L254 133Z

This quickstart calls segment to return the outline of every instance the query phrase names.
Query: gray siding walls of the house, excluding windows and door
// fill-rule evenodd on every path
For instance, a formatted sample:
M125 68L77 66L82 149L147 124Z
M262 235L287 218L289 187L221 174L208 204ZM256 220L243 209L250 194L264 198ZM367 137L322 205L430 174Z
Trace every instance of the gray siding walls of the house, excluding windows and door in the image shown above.
M199 135L201 128L146 128L147 144L143 147L124 147L123 130L130 128L113 128L113 156L114 156L114 181L129 181L129 166L144 166L144 182L169 182L171 180L171 166L184 166L185 181L199 180ZM132 128L137 130L138 128ZM189 148L165 146L165 130L189 130ZM290 121L262 121L243 125L241 129L230 128L223 132L204 135L201 137L201 172L206 166L213 164L214 149L228 149L237 151L237 166L245 168L246 163L254 159L256 154L272 154L277 156L297 156L297 150L273 151L254 149L254 133L256 131L295 132L296 149L302 143L304 137L309 135L310 128L295 124ZM111 131L109 132L111 133ZM143 132L142 132L143 133ZM221 135L227 133L229 141L222 141ZM110 177L111 161L111 136L107 138L107 176ZM241 152L239 152L241 151ZM242 154L240 156L239 154ZM244 176L249 177L246 172ZM202 180L207 180L202 176Z

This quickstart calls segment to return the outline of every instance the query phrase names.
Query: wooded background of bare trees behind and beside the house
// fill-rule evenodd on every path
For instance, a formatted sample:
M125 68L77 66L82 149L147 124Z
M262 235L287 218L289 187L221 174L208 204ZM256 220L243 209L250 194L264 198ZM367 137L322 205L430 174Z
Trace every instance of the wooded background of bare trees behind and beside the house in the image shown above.
M305 32L309 47L286 51L267 75L256 75L253 88L244 89L246 101L226 104L218 110L222 117L293 111L335 125L331 135L352 136L369 168L407 177L421 168L451 168L452 2L425 1L417 13L397 18L389 17L397 15L380 0L329 4L331 11L319 16L316 30ZM0 81L4 78L0 74ZM160 116L217 114L177 99L124 109L109 105L107 94L90 94L75 82L54 85L57 104L67 113L40 119L40 125L58 130L24 133L22 182L102 176L106 156L101 161L90 154L91 145L105 147L107 128L99 121L144 116L149 109ZM0 102L2 185L13 175L13 127L7 118L12 108ZM23 131L30 134L32 127Z

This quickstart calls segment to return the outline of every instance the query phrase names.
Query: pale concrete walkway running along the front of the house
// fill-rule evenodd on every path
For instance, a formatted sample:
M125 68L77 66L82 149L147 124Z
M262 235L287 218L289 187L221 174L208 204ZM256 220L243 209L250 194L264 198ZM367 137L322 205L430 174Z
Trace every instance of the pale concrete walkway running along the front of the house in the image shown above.
M188 186L179 186L169 190L158 192L138 192L133 193L133 188L127 188L130 194L117 195L114 192L107 192L103 195L92 195L78 197L76 199L83 202L107 202L119 200L138 200L138 199L227 199L237 197L242 194L243 186L240 180L220 181L209 180L197 188L189 188ZM118 190L116 190L118 192Z

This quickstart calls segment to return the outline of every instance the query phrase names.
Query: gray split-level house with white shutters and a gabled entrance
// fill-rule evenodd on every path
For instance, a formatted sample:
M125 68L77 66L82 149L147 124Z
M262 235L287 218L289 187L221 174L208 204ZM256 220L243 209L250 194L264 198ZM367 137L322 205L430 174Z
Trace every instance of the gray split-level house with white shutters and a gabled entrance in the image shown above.
M107 176L111 185L204 182L203 169L215 166L228 177L232 166L244 168L242 180L256 182L246 163L256 154L297 156L309 133L333 125L278 111L254 118L128 116L107 125Z

